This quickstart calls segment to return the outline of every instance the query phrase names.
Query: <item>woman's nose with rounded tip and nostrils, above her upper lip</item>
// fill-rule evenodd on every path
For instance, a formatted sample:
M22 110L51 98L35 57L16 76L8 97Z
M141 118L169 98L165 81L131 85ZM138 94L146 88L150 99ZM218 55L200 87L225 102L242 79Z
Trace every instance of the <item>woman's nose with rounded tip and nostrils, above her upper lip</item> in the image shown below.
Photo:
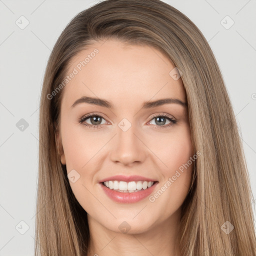
M135 125L131 125L126 131L117 127L110 152L110 159L113 162L125 166L138 164L144 161L146 152L143 136L136 130Z

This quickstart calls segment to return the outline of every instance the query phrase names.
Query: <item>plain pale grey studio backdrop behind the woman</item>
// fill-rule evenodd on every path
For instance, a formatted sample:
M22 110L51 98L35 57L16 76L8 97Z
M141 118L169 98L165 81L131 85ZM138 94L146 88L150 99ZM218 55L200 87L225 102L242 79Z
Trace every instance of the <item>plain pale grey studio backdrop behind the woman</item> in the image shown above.
M0 0L0 255L33 255L43 74L66 24L98 1ZM164 0L201 30L231 99L256 197L256 1Z

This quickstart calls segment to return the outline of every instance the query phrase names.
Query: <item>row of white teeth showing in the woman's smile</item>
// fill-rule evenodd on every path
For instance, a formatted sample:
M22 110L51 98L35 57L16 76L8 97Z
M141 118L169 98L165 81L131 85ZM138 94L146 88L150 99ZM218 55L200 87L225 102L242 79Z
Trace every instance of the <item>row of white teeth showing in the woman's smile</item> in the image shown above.
M106 187L109 189L118 190L121 192L136 192L147 187L152 186L153 181L118 181L118 180L109 180L103 182Z

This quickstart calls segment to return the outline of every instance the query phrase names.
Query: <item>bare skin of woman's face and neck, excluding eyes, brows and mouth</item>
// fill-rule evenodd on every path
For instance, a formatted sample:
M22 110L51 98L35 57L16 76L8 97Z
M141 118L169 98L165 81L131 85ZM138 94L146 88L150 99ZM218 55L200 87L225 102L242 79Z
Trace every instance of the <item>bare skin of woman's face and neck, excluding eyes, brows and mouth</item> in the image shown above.
M117 203L98 181L116 174L142 175L158 181L155 193L189 160L193 150L186 108L168 103L141 109L144 101L166 97L185 102L182 80L169 75L174 66L157 49L117 40L96 41L79 52L68 73L94 48L99 52L63 88L58 133L61 162L67 173L75 169L80 175L69 183L87 212L91 237L87 255L180 255L180 206L191 182L192 164L154 202L146 197ZM82 96L104 98L113 109L89 103L71 107ZM78 122L94 112L104 116L101 127ZM161 128L152 115L163 113L177 122L167 127L170 121L164 119L166 127ZM118 127L123 118L131 124L125 132ZM91 118L84 122L91 124ZM123 221L130 226L127 233L118 228Z

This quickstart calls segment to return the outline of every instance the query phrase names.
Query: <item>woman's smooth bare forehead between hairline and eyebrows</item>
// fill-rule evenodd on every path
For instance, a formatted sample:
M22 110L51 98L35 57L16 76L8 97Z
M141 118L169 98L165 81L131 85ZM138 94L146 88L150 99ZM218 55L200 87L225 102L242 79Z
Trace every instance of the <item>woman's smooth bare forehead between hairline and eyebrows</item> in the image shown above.
M173 68L152 46L96 41L69 62L66 75L74 75L64 86L62 101L71 106L81 96L93 96L128 107L166 96L186 101L181 78L169 74Z

